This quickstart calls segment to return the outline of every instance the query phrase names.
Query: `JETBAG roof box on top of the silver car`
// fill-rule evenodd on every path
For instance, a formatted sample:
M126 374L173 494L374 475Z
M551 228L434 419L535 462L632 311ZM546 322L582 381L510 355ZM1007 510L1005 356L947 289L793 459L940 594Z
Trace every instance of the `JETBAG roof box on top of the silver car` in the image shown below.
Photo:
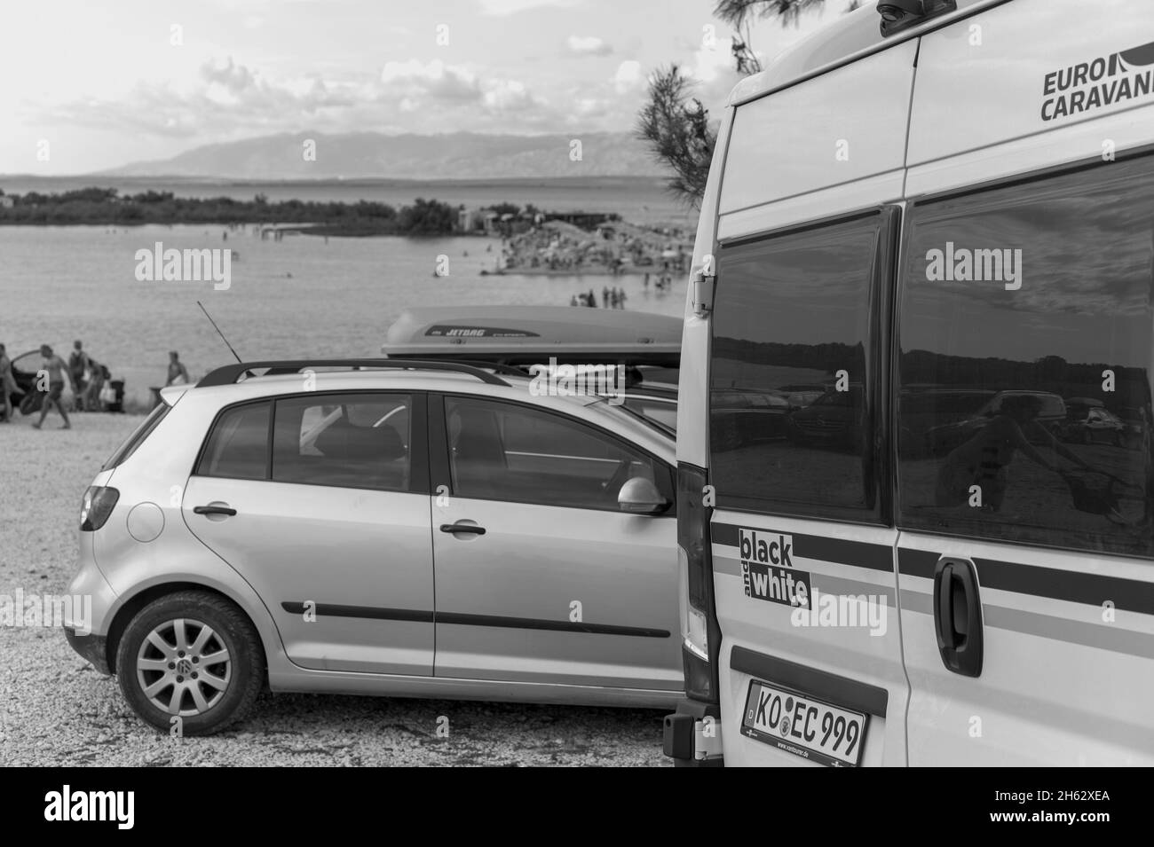
M681 360L682 319L568 305L457 305L406 309L389 327L390 357L537 364L658 364Z

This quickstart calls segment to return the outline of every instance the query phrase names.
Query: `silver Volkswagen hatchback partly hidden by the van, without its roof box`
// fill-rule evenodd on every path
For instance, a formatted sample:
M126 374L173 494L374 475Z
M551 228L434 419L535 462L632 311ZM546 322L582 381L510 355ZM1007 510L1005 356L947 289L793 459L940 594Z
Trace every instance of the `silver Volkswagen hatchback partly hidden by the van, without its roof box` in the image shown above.
M466 364L228 365L84 494L69 643L149 724L265 687L665 708L682 696L674 444Z

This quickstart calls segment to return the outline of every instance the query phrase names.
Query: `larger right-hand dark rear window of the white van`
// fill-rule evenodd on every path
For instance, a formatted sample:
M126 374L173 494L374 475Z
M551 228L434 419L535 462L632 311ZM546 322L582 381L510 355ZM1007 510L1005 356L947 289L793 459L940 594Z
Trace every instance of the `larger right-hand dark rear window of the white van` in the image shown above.
M917 204L898 523L1154 555L1154 157Z

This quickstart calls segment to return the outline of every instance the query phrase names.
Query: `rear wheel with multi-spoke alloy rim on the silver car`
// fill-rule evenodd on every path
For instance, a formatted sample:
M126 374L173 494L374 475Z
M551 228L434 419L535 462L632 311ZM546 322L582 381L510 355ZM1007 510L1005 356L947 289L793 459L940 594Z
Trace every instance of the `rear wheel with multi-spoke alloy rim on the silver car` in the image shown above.
M117 649L117 676L145 723L210 735L239 720L264 686L264 651L248 618L207 591L180 591L142 608Z

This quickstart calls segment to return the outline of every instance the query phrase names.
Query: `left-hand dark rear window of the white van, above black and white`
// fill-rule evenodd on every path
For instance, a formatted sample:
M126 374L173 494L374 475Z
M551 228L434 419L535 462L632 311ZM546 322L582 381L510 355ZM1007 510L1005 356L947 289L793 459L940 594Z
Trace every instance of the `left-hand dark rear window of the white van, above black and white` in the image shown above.
M721 249L710 373L718 505L870 517L865 386L882 226L871 215Z

